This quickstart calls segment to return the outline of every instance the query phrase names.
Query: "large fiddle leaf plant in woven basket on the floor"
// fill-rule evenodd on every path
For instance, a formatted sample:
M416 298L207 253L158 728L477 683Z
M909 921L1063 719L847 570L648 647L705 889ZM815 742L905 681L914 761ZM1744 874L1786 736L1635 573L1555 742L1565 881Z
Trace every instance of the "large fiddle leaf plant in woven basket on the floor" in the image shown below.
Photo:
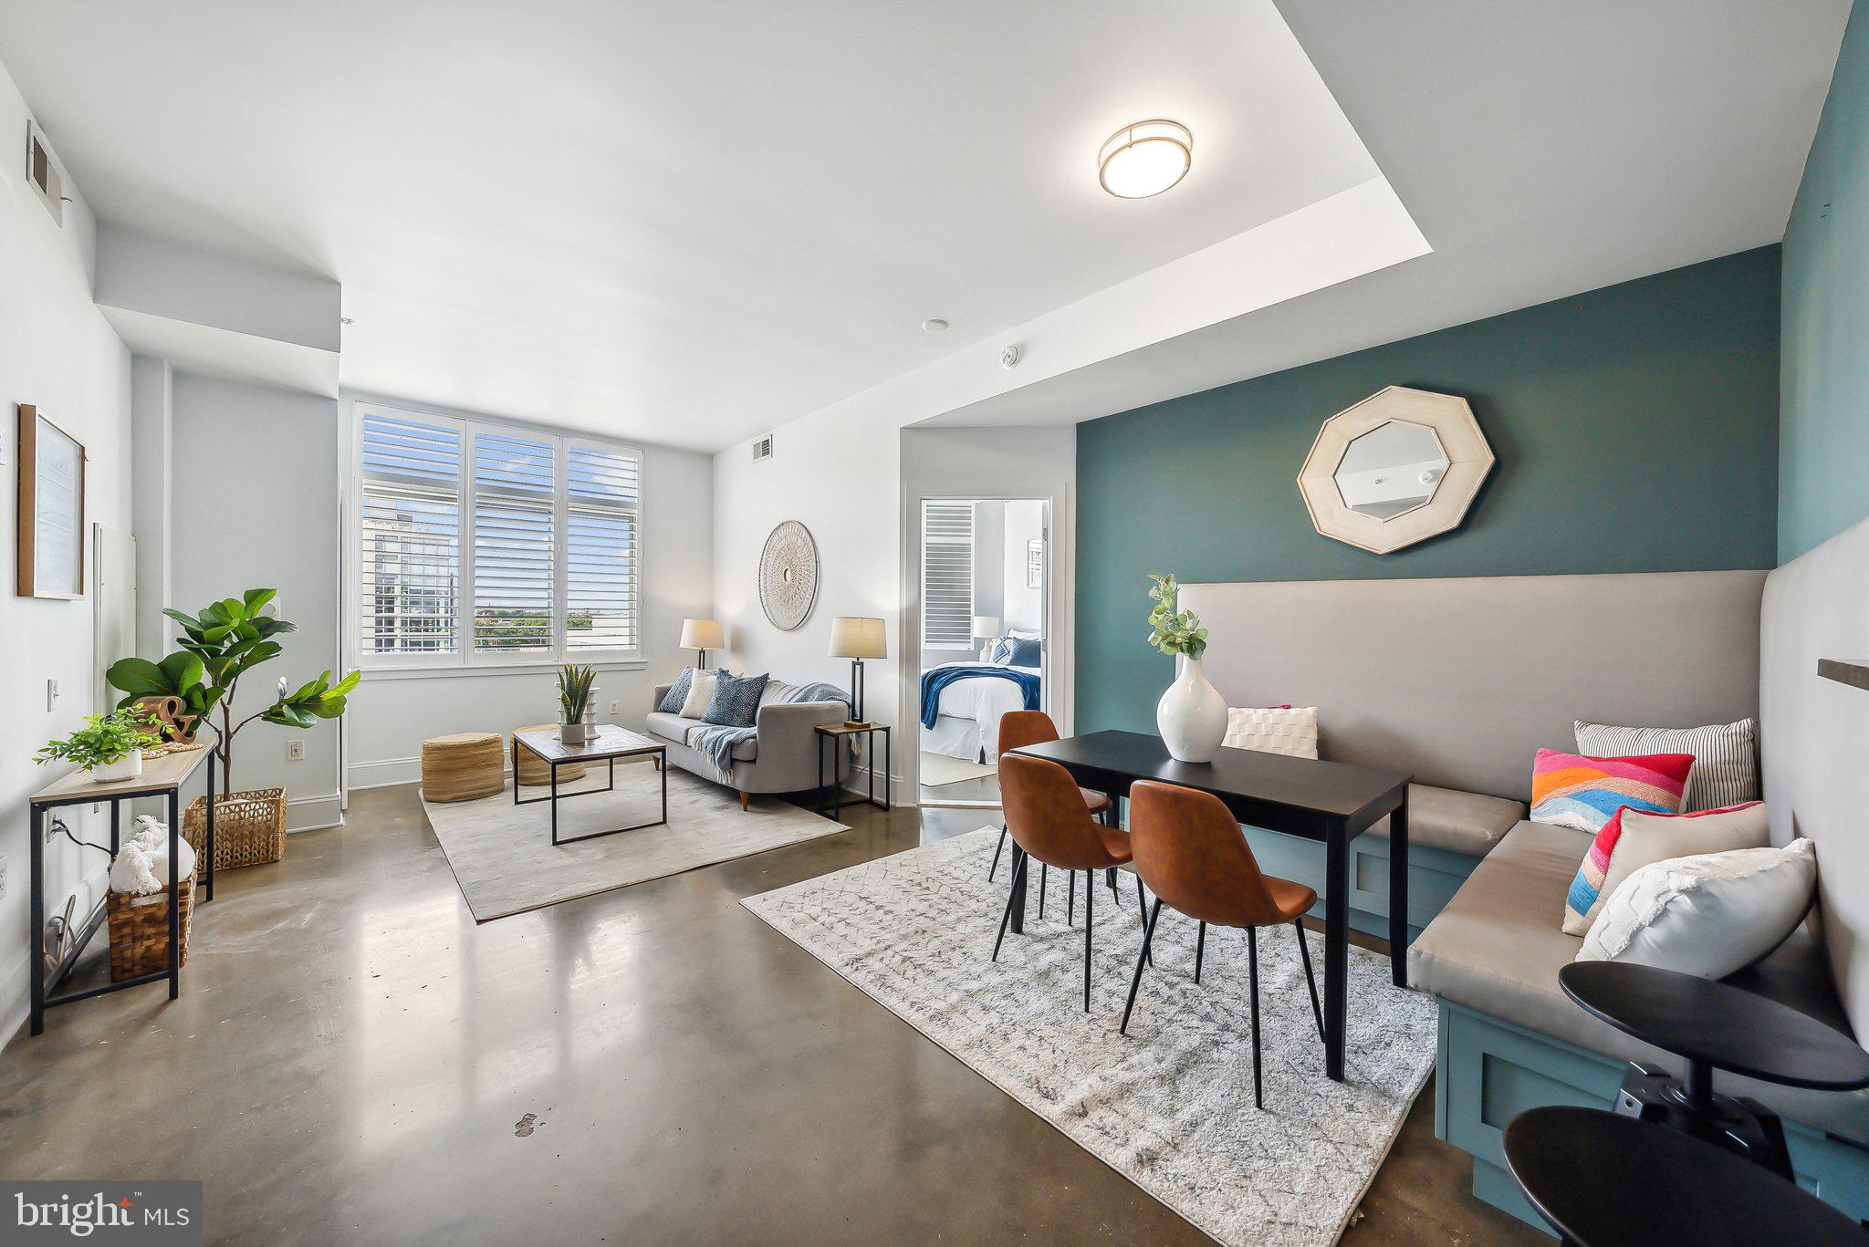
M161 662L123 658L105 673L110 686L125 694L123 705L178 697L196 725L207 724L213 729L209 748L221 763L215 869L277 862L284 854L286 791L234 789L234 738L239 731L256 720L280 727L312 727L318 720L338 718L363 677L361 671L351 671L333 684L331 671L323 671L297 688L282 677L269 705L235 720L234 701L241 679L278 658L284 647L277 638L297 630L271 606L275 595L275 589L249 589L243 596L209 602L194 615L164 609L164 615L181 624L178 652ZM196 851L206 824L206 800L194 798L183 821L183 834Z

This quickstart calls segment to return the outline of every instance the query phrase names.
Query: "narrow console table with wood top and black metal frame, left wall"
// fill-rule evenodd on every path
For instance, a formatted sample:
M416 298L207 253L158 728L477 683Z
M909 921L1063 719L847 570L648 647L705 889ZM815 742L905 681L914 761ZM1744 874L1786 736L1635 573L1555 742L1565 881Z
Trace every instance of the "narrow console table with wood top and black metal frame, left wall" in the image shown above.
M103 996L112 991L123 991L125 987L142 987L144 983L155 983L168 980L168 998L174 1000L181 995L181 905L179 888L181 882L176 877L176 866L179 864L178 845L181 839L181 785L207 763L207 836L204 849L196 854L196 869L202 871L202 890L206 899L215 897L215 752L211 748L187 750L183 753L163 753L161 757L146 759L142 765L142 774L135 780L114 780L110 783L99 783L92 780L90 772L75 770L64 780L52 783L32 795L32 828L28 839L32 841L32 896L30 896L30 922L32 922L32 965L26 974L32 982L32 1034L45 1032L45 1011L58 1004L71 1004L75 1000L88 1000L92 996ZM116 858L118 838L121 836L121 806L125 800L135 800L138 796L163 796L168 800L168 968L151 970L150 974L138 974L136 978L125 978L120 983L101 983L97 987L86 987L82 991L67 991L65 995L52 995L58 985L64 983L73 967L78 963L78 955L84 946L97 933L97 927L105 920L105 901L99 901L90 914L86 914L84 924L67 952L50 972L45 967L45 828L47 813L60 810L64 806L99 806L110 802L110 856ZM64 834L82 849L105 851L103 845L92 845L69 830L62 823L52 819L54 830L64 830Z

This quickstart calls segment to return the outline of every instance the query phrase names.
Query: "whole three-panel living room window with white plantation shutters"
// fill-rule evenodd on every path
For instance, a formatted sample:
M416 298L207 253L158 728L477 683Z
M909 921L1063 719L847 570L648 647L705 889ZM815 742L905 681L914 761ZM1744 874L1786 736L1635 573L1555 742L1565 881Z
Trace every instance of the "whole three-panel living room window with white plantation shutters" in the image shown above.
M363 404L355 428L361 664L637 654L641 454Z

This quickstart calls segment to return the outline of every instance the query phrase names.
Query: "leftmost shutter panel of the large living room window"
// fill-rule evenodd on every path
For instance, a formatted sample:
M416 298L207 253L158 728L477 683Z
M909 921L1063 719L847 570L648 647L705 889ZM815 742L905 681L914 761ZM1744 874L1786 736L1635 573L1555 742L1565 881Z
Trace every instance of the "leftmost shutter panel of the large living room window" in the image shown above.
M363 413L357 497L363 654L458 654L460 428Z

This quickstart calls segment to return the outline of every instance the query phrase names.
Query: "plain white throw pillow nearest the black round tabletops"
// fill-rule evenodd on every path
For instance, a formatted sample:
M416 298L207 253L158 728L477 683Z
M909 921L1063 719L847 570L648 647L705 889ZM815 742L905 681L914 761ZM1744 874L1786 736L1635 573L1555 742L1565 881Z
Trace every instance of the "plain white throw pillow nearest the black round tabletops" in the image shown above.
M1813 888L1817 849L1809 839L1652 862L1609 894L1577 961L1725 978L1798 929Z

